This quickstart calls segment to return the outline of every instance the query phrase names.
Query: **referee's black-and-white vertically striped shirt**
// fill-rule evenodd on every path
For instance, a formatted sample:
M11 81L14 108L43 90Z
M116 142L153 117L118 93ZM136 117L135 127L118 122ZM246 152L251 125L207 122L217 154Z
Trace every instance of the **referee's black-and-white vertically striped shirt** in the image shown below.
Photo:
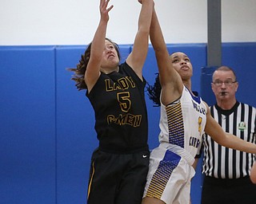
M210 114L224 131L256 143L256 108L237 101L230 110L222 110L215 104L210 107ZM238 179L250 175L254 154L223 147L206 134L202 136L202 143L203 174L218 179Z

